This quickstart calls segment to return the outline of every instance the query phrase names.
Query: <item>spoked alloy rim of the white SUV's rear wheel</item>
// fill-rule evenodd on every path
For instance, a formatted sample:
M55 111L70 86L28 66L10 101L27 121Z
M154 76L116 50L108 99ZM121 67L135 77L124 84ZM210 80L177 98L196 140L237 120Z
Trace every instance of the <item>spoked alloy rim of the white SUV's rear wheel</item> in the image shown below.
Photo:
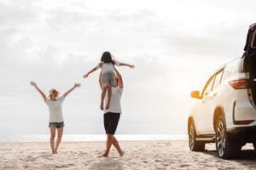
M222 121L219 121L217 132L216 132L216 148L218 151L218 156L220 157L224 156L225 145L226 145L226 139L225 139L224 123Z

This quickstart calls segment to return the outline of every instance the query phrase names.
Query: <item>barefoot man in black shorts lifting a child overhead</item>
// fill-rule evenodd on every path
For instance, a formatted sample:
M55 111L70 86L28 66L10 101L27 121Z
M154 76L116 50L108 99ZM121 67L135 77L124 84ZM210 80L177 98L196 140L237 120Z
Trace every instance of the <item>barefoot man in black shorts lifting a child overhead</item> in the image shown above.
M110 100L110 105L108 110L104 110L104 127L106 134L108 136L107 139L107 148L105 153L102 155L104 157L107 157L109 154L109 150L113 144L113 146L116 148L116 150L119 151L119 156L124 156L125 152L121 150L119 146L119 141L113 136L115 133L115 130L119 124L119 117L122 113L121 111L121 105L120 105L120 99L123 94L123 80L121 75L119 74L119 71L117 71L114 68L115 74L116 74L116 84L112 87L112 97ZM100 86L102 88L102 78L100 76ZM105 98L105 104L107 103ZM104 107L105 108L105 107Z

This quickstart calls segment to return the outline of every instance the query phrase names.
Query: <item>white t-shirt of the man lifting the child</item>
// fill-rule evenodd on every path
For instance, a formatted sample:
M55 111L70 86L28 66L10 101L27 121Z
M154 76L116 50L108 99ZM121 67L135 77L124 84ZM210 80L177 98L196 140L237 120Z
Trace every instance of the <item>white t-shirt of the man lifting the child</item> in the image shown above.
M105 110L106 105L108 103L108 93L105 96L105 107L104 107L104 114L108 113L108 112L113 112L113 113L122 113L122 109L121 109L121 97L123 94L123 88L119 88L118 87L112 87L112 96L110 99L110 105L109 105L109 109Z

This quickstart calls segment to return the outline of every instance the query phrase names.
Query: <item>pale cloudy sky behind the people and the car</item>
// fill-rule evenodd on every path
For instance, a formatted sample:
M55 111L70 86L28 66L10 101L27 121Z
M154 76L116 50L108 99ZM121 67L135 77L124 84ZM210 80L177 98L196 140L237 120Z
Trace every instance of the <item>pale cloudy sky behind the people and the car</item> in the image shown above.
M187 116L212 72L240 57L256 3L220 0L0 0L0 134L49 133L48 108L29 85L61 94L65 133L104 133L99 71L104 51L125 87L120 134L185 134Z

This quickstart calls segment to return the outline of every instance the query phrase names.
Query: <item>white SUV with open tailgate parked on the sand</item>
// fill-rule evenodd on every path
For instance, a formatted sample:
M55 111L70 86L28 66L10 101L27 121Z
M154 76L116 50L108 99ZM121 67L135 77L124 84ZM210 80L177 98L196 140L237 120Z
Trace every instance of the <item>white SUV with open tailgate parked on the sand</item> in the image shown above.
M256 25L249 28L245 53L223 65L201 91L188 118L190 150L204 150L216 143L218 156L239 156L241 146L253 143L256 150Z

